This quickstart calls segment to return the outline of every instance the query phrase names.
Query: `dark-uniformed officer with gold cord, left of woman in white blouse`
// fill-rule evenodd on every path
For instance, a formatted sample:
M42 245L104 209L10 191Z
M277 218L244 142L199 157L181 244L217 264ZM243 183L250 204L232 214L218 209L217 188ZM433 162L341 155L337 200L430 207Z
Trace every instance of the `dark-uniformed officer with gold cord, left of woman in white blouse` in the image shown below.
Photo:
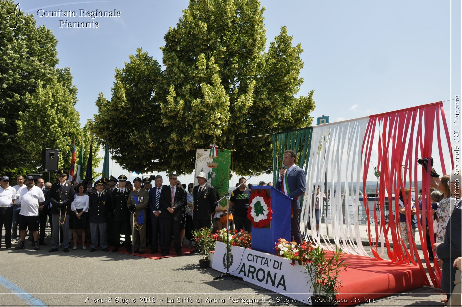
M56 252L59 248L59 232L62 226L63 252L69 252L69 216L71 203L74 200L74 185L67 182L67 171L61 169L58 172L59 182L52 184L48 193L51 204L51 216L53 220L51 249L48 252Z

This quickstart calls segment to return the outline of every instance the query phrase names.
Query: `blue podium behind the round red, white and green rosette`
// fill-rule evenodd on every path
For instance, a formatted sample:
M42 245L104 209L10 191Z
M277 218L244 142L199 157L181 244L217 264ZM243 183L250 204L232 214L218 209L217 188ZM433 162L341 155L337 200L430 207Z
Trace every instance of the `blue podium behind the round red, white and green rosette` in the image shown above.
M279 239L283 238L287 241L291 239L292 198L273 186L252 185L252 190L266 190L267 196L271 196L271 210L273 210L272 219L267 226L252 227L252 249L274 255L274 246Z

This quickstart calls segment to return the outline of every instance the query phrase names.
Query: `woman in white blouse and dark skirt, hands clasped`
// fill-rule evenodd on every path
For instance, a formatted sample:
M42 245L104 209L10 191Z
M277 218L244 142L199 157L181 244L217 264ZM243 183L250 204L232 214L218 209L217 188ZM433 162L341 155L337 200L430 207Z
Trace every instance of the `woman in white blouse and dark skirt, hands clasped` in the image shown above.
M71 225L74 235L74 247L72 249L77 249L77 234L80 229L80 237L82 238L82 249L86 249L85 246L85 229L87 224L87 212L88 212L88 201L90 196L88 196L85 191L85 185L79 184L77 186L77 194L74 197L74 200L71 204L71 210L74 214L71 215Z

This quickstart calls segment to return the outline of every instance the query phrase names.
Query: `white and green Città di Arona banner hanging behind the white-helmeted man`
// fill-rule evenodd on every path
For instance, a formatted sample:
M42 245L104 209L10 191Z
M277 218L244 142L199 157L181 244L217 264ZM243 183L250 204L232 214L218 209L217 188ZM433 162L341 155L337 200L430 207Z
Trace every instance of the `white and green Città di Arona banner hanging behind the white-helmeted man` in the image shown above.
M197 185L197 175L204 172L207 177L207 184L215 188L219 198L228 193L231 170L231 150L220 149L218 157L209 157L210 149L196 150L196 167L194 175L194 185ZM226 198L220 202L222 207L226 206Z

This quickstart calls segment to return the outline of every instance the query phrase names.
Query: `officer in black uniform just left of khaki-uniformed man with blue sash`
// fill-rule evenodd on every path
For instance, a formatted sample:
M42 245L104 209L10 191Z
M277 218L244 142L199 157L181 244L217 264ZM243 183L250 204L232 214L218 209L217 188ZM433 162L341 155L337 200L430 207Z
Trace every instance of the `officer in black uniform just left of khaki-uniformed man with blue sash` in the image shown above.
M128 195L130 191L125 187L127 176L120 175L119 188L111 193L112 212L114 213L114 233L113 239L114 249L112 252L117 252L120 247L120 235L125 235L124 245L127 252L132 252L132 242L130 235L132 233L130 227L130 210L127 208Z

